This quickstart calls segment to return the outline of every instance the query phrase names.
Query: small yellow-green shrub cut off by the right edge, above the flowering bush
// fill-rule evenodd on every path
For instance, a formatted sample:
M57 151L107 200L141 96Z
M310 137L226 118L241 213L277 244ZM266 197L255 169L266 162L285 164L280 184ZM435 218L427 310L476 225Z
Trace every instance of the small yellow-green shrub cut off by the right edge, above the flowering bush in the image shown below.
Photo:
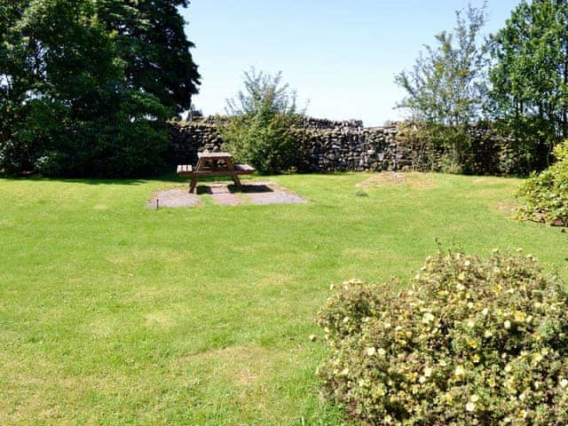
M554 150L557 162L533 174L517 196L525 198L519 217L568 226L568 140Z

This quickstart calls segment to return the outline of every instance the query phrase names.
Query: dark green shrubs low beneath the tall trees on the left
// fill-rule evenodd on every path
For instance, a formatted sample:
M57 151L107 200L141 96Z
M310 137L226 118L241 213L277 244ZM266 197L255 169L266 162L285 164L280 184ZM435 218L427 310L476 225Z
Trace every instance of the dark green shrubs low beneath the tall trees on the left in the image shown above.
M169 139L166 110L154 95L100 92L85 99L97 114L35 99L0 141L0 170L46 177L135 177L162 171ZM94 106L93 106L94 105Z

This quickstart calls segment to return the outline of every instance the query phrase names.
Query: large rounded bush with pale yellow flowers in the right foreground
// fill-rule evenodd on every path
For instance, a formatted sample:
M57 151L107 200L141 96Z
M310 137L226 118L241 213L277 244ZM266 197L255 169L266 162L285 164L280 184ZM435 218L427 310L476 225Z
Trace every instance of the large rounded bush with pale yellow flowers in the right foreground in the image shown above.
M323 392L365 424L568 424L567 308L531 255L429 257L398 295L346 282L318 314Z

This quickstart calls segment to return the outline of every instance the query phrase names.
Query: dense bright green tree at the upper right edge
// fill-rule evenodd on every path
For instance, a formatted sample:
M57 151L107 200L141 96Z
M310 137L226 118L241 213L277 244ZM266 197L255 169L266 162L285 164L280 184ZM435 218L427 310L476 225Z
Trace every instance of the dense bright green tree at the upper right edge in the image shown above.
M493 115L515 131L527 162L538 161L568 138L568 3L522 1L491 44Z

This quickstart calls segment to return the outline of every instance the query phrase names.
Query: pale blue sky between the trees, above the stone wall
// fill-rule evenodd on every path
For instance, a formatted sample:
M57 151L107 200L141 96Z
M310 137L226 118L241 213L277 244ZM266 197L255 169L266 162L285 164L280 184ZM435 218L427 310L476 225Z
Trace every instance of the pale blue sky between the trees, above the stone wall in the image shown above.
M473 0L481 5L481 0ZM519 0L489 0L487 32ZM404 116L394 76L410 69L424 43L455 24L467 0L193 0L182 11L196 44L204 114L223 114L225 99L250 67L276 73L296 89L307 114L381 125Z

